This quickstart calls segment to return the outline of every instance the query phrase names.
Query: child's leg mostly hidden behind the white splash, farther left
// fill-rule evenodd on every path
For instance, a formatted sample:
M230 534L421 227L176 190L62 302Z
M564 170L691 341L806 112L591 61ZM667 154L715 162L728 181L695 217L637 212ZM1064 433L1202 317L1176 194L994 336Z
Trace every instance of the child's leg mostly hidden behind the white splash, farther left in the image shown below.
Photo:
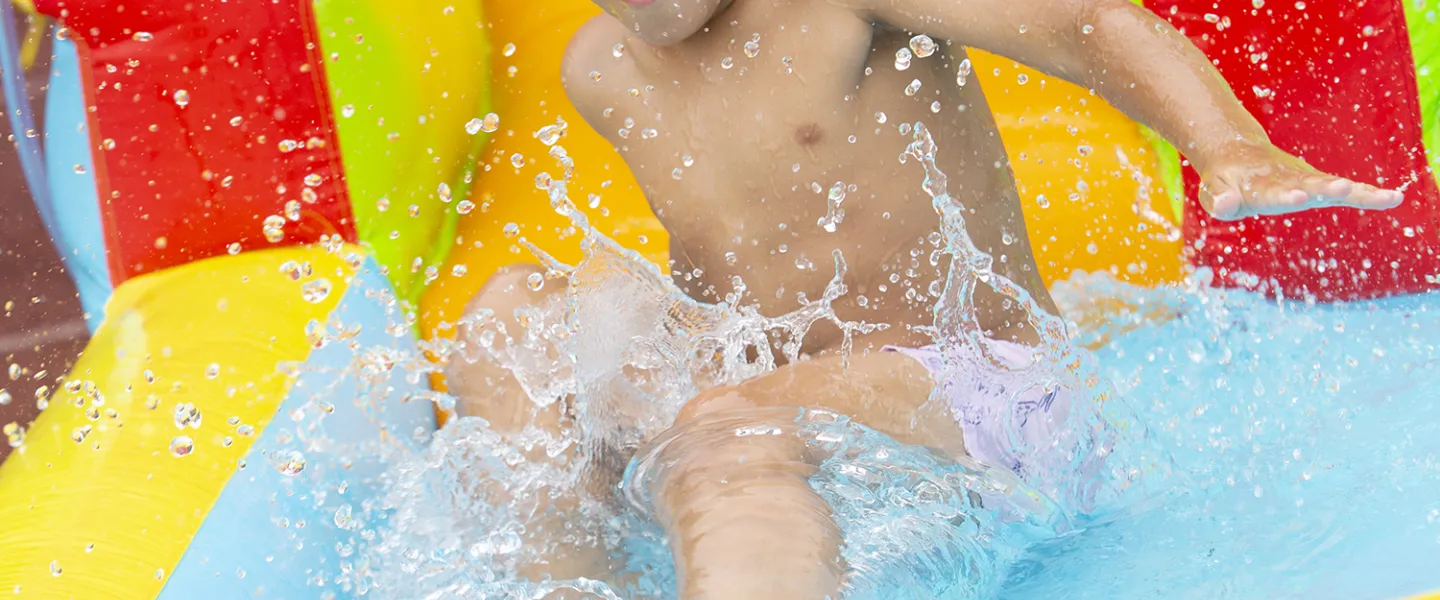
M563 286L547 286L546 292L534 292L526 285L530 273L541 272L540 266L517 265L495 273L485 286L475 295L467 306L467 314L480 309L495 312L495 319L504 324L511 335L521 335L523 328L516 319L516 309L543 302L549 295L563 291ZM458 340L475 344L477 332L461 328ZM497 348L504 347L503 337L494 341ZM491 430L513 436L530 427L537 427L552 436L562 436L569 426L562 403L549 407L537 407L521 388L520 381L505 368L490 360L480 358L474 363L462 355L478 357L484 351L480 348L465 348L461 355L452 355L445 370L445 380L449 393L458 399L461 416L481 417L490 422ZM536 449L527 455L533 463L554 463L556 458L547 456L543 449ZM487 478L478 485L487 486L487 495L510 502L508 494L498 489L494 478ZM526 524L526 547L528 558L518 565L523 577L531 581L569 580L588 577L603 580L609 574L608 554L595 542L593 532L577 531L579 491L567 489L559 494L534 492L537 499L536 514ZM564 597L564 596L557 596Z

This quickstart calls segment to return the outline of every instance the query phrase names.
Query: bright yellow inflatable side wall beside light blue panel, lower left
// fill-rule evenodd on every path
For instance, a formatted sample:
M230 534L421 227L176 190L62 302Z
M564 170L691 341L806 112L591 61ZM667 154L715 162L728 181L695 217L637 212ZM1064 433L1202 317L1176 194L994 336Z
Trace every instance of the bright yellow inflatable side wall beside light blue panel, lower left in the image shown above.
M353 247L350 250L354 250ZM307 263L328 295L281 273ZM131 279L65 388L0 465L0 590L156 597L310 355L353 269L318 249L206 259ZM311 288L314 291L314 288ZM177 407L193 404L193 427ZM258 468L261 465L252 465Z

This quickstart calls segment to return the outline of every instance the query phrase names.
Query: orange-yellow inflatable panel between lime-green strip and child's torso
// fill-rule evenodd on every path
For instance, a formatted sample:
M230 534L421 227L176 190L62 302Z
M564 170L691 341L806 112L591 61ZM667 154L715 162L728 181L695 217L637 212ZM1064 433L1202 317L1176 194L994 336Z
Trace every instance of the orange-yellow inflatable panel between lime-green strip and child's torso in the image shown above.
M534 184L540 173L559 174L547 154L550 148L534 138L536 131L554 125L557 118L567 124L567 135L559 145L576 165L570 197L582 209L590 204L592 194L599 197L599 206L586 210L595 227L660 263L667 260L670 246L619 153L585 124L560 83L566 45L599 9L589 0L487 0L484 14L490 22L495 73L491 105L500 128L482 153L471 199L477 207L461 216L449 260L420 301L420 331L428 337L441 322L459 318L465 302L497 269L534 262L516 243L518 237L560 260L580 259L579 235L550 210ZM520 168L511 163L516 155L523 157ZM507 224L514 224L514 236L505 233Z

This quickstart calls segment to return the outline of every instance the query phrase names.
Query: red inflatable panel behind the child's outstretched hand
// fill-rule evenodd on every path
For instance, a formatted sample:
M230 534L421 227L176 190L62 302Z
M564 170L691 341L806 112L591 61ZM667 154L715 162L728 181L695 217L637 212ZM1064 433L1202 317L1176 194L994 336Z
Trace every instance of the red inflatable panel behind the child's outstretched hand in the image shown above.
M1312 165L1405 193L1368 213L1326 209L1211 219L1185 171L1191 260L1217 285L1346 301L1436 288L1440 191L1421 144L1403 0L1146 0L1218 66L1276 145ZM1303 6L1300 9L1299 6Z

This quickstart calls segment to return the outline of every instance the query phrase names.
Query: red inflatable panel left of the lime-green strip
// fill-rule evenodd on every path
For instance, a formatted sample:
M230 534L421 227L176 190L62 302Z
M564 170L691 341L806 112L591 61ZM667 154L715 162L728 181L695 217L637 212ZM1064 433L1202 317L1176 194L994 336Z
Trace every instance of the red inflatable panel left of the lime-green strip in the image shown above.
M310 0L37 0L81 47L114 283L279 243L354 242ZM298 148L289 150L291 144ZM311 190L314 194L304 190Z

